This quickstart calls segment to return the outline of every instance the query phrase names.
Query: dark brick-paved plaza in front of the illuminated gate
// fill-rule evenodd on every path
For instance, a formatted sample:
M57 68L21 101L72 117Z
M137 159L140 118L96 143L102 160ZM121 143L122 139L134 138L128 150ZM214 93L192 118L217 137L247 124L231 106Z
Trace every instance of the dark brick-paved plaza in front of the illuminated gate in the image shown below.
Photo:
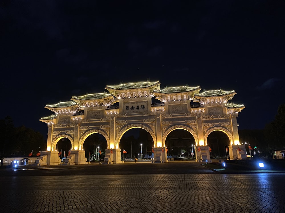
M284 212L284 174L218 174L200 163L0 169L1 212Z

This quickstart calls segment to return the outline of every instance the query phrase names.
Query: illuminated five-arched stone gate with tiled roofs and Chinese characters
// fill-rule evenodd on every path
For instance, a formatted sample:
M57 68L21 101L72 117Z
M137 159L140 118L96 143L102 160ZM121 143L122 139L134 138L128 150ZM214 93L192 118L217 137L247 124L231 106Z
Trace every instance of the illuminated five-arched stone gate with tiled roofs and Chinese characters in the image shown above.
M121 163L119 142L131 128L142 128L154 142L153 162L167 162L165 140L176 129L189 131L195 139L197 162L211 162L207 136L223 131L229 137L230 159L246 158L239 143L237 116L244 105L229 103L235 91L202 91L200 86L176 86L160 89L160 82L132 82L107 85L109 93L73 96L70 101L46 105L54 114L40 121L48 125L47 151L39 165L60 164L55 150L57 141L67 137L72 144L66 164L86 164L83 144L91 133L100 133L107 141L105 164ZM152 103L155 97L160 103ZM158 102L158 101L157 101Z

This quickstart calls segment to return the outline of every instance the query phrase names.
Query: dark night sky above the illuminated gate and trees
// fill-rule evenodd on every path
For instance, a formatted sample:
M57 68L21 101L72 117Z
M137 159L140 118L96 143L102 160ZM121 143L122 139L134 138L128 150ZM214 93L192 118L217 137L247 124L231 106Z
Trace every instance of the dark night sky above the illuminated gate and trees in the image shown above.
M239 129L284 104L284 1L1 1L1 116L47 135L46 104L106 85L235 90Z

